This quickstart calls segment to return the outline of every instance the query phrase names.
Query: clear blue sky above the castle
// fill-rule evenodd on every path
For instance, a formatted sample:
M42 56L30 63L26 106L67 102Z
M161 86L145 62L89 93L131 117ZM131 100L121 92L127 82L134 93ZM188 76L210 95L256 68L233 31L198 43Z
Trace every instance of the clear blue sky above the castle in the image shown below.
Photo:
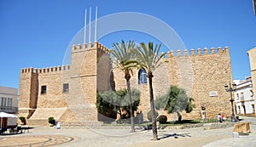
M84 27L84 8L94 12L96 6L98 18L122 12L152 15L170 25L188 49L228 46L233 78L250 76L246 52L256 46L252 0L1 0L0 85L19 88L21 68L62 65L69 42ZM99 42L111 48L122 39L154 40L134 33L112 33Z

